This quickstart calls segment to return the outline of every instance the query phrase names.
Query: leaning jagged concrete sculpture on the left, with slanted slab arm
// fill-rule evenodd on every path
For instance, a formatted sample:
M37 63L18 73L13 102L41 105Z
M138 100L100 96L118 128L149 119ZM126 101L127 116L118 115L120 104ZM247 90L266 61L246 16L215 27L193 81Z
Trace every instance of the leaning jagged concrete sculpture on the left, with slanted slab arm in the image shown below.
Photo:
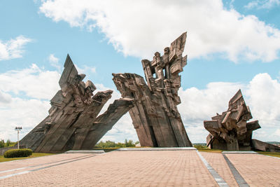
M133 106L132 99L116 99L98 116L112 90L97 92L85 74L78 74L69 55L59 80L61 90L50 100L49 115L21 141L20 145L36 152L91 149Z

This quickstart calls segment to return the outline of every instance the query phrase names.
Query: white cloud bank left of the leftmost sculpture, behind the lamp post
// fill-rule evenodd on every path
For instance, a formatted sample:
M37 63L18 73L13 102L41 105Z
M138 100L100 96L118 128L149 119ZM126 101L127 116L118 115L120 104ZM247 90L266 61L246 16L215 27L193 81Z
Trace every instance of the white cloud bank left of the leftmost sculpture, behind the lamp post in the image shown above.
M57 71L44 71L36 64L0 74L0 139L15 141L14 128L22 126L21 139L48 116L49 100L59 90L58 81Z

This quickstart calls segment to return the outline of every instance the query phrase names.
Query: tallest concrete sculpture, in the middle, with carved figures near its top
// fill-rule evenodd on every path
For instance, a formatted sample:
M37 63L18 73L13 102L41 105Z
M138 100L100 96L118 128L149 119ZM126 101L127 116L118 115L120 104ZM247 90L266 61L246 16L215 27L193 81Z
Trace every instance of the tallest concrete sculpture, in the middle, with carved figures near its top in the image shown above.
M142 60L148 85L137 74L113 74L122 97L135 100L130 116L141 146L192 146L176 106L181 103L179 73L187 64L187 56L182 57L185 43L183 33L164 55L157 52L152 61Z

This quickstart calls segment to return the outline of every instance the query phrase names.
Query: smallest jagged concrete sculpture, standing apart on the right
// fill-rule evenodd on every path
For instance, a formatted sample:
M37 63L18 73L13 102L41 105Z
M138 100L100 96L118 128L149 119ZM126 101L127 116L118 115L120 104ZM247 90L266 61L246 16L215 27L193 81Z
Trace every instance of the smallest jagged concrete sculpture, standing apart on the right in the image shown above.
M246 106L241 90L228 104L228 111L204 120L204 127L210 132L207 146L229 151L251 150L252 132L260 128L258 120L246 122L252 117L249 106Z

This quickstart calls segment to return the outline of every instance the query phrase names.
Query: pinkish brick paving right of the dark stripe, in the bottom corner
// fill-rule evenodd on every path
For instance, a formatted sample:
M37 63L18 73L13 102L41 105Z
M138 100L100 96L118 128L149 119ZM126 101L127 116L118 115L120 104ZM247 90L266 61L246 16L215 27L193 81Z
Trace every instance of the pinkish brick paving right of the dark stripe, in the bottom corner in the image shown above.
M280 160L259 154L226 154L250 186L280 186Z

